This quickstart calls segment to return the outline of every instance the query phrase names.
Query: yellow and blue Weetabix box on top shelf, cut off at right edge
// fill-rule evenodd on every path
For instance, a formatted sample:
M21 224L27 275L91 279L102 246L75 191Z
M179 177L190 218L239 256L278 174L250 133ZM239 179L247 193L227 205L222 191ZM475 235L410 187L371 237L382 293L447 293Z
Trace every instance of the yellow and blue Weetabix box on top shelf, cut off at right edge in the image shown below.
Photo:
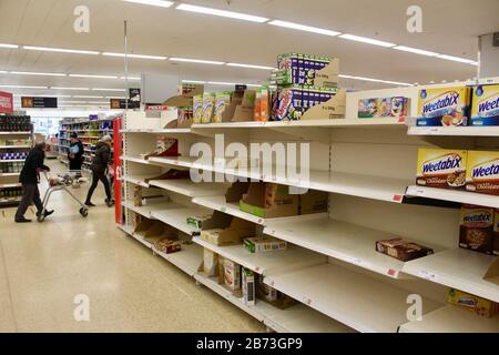
M471 125L499 125L499 84L473 88Z

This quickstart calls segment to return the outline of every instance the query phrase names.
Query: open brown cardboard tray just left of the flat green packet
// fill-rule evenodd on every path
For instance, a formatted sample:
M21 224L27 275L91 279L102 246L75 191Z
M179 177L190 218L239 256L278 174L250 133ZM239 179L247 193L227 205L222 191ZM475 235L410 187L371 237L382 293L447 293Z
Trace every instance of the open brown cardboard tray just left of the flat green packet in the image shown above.
M214 245L241 244L245 237L256 235L256 225L252 222L215 211L203 222L201 239Z

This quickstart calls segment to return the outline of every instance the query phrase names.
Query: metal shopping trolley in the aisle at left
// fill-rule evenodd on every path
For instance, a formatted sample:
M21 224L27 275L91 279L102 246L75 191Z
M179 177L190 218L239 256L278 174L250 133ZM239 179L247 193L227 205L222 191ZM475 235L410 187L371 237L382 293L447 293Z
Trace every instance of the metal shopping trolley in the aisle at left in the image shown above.
M70 170L58 174L51 174L48 171L43 171L47 182L49 183L49 189L47 189L43 196L43 210L37 217L38 222L43 222L45 220L45 211L50 196L57 191L65 191L74 201L77 201L80 205L80 214L82 217L86 217L89 215L89 207L86 207L71 191L72 189L80 187L81 184L88 181L88 179L84 178L84 173L85 171L82 170Z

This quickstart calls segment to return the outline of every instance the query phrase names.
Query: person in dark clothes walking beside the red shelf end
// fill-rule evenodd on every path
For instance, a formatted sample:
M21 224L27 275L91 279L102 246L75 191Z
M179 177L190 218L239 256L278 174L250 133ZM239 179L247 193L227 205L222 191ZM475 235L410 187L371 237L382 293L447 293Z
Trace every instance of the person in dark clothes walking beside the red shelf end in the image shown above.
M111 142L112 138L110 135L105 135L102 140L95 144L95 156L92 160L92 165L90 169L92 170L92 185L89 189L89 194L86 195L85 205L89 207L93 207L92 203L92 194L99 183L101 181L104 184L105 189L105 204L108 206L113 205L113 201L111 197L111 187L109 185L109 180L106 176L108 164L111 158Z

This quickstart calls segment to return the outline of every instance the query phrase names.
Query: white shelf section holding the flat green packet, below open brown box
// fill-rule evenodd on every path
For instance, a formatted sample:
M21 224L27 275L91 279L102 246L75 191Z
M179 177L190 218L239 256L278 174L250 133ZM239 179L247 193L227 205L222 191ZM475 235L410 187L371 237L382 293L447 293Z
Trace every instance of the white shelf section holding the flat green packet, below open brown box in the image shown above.
M194 237L193 241L216 254L220 254L257 274L283 272L318 265L327 262L325 255L320 255L303 247L291 246L284 251L265 253L249 253L243 245L218 246Z

